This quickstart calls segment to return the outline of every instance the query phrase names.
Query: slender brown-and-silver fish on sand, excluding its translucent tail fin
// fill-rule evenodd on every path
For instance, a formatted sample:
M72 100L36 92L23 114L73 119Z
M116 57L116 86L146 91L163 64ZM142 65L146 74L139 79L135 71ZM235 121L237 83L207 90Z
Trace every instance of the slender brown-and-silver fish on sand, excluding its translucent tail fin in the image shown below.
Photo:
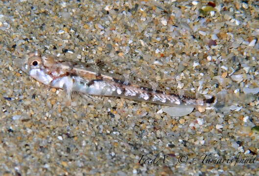
M216 96L209 99L196 98L132 85L94 69L93 65L70 62L59 57L42 56L39 51L28 54L24 60L17 59L15 64L37 81L50 87L66 90L69 101L72 91L90 95L123 97L169 106L208 107L214 105L217 99Z

